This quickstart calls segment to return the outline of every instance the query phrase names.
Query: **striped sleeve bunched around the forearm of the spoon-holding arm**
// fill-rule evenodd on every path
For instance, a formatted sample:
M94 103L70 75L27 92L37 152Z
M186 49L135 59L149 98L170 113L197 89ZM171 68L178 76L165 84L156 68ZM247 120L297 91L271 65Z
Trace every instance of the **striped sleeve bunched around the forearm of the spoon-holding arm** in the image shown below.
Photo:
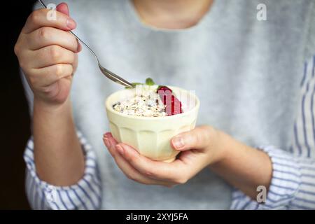
M78 138L85 153L85 173L76 185L68 187L52 186L38 178L34 163L34 142L32 138L29 139L24 153L27 165L25 188L32 209L100 209L102 185L96 158L80 132Z

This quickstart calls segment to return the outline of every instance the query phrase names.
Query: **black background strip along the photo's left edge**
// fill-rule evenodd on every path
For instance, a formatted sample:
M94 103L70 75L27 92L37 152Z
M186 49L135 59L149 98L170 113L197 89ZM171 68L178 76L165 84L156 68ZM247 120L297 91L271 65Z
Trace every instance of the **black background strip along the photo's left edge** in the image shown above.
M35 1L1 2L0 209L29 209L22 158L30 136L29 113L13 47Z

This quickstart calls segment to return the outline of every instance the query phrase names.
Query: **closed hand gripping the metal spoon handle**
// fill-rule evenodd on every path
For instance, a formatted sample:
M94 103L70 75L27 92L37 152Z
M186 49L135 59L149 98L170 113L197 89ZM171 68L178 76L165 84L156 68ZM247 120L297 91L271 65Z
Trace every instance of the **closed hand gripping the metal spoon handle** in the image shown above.
M48 20L48 12L40 9L29 15L14 50L34 101L58 105L69 96L81 46L69 33L76 22L69 17L66 3L57 6L56 20Z

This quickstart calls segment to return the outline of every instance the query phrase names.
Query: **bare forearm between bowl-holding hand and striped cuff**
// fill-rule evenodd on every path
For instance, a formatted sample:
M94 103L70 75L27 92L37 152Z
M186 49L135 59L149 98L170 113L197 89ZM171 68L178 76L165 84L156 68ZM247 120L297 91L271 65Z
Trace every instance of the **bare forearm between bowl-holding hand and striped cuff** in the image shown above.
M255 148L241 144L223 132L218 134L222 139L223 159L210 166L232 186L255 199L257 187L269 188L272 179L272 162L269 156Z

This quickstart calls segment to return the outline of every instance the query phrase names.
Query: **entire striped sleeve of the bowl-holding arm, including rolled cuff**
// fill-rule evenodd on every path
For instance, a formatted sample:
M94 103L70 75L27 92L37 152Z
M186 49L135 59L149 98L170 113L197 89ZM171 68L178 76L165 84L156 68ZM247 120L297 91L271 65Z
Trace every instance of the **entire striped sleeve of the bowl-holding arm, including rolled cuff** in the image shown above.
M272 160L264 203L235 190L231 209L315 209L315 55L304 64L301 100L290 150L262 146Z

